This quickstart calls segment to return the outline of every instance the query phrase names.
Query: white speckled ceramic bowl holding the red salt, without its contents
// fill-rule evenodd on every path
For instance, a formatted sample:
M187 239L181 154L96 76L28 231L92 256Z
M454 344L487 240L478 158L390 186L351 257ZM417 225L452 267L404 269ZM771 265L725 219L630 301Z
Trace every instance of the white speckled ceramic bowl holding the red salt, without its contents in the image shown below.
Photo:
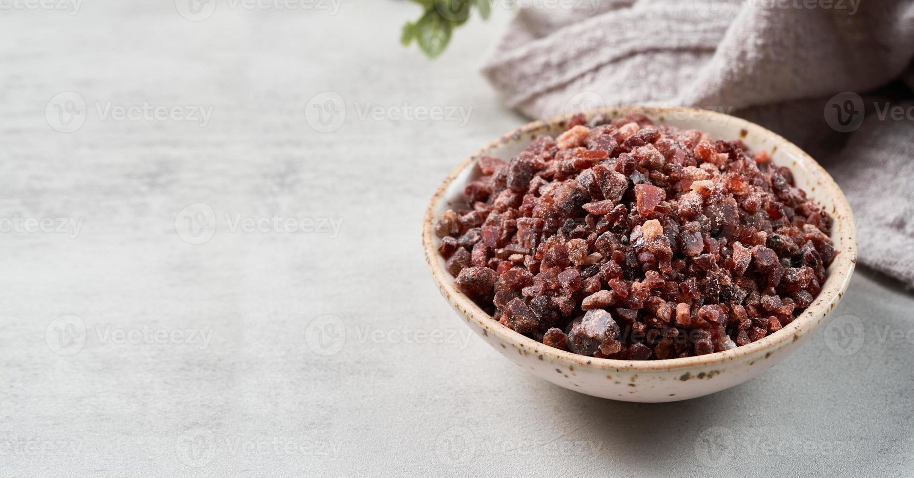
M436 251L441 244L432 234L436 216L450 204L462 202L463 187L481 174L476 166L481 156L509 160L538 135L556 135L565 130L571 115L526 124L463 161L431 198L422 227L422 243L426 262L441 288L441 295L474 332L518 366L569 390L595 397L640 402L686 400L755 377L809 337L847 288L856 263L856 230L850 206L832 177L813 158L781 136L749 121L700 109L632 107L592 110L587 115L590 118L597 113L607 113L613 118L622 118L632 112L644 113L659 124L704 130L714 139L742 139L752 151L770 151L772 161L789 166L797 185L832 214L832 240L838 255L828 268L822 293L800 317L778 332L743 347L686 359L635 361L595 359L547 347L499 324L473 304L454 286L452 275L444 269L445 261Z

